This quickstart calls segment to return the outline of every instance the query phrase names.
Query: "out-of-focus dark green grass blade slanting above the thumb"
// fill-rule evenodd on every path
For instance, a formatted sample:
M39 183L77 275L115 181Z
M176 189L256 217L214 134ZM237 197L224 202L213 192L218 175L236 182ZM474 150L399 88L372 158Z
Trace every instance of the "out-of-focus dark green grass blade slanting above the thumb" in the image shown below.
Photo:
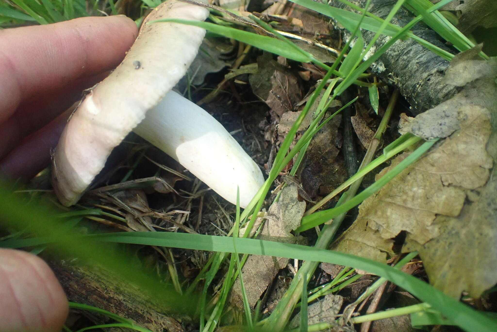
M35 240L40 245L43 243L39 240L43 238L48 240L45 244L55 241L56 244L51 246L51 249L58 254L76 256L81 261L107 267L123 282L133 283L140 287L143 296L151 299L160 297L164 306L171 311L191 313L193 306L196 306L195 294L188 298L178 298L177 293L169 285L145 273L141 264L130 260L113 245L93 242L89 238L83 239L68 227L61 227L64 220L57 218L59 211L54 209L51 202L45 202L45 204L34 200L26 202L21 199L22 197L24 197L22 194L10 193L0 185L2 227L26 228L27 232L39 237ZM0 242L0 247L7 247L4 246L6 243L7 241ZM8 247L15 246L10 243Z

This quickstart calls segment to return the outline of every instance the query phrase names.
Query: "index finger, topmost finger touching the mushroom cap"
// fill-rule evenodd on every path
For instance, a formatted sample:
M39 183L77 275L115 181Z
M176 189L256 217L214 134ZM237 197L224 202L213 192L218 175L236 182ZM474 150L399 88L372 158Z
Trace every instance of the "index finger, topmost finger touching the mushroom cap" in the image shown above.
M0 123L25 98L116 67L137 34L124 15L0 30Z

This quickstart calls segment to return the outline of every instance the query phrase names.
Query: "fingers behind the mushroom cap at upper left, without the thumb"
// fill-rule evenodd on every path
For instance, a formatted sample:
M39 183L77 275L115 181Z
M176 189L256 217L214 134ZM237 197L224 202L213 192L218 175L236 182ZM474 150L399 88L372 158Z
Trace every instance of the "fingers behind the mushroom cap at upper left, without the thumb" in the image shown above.
M0 177L29 179L49 164L63 112L121 62L137 34L124 15L0 30Z

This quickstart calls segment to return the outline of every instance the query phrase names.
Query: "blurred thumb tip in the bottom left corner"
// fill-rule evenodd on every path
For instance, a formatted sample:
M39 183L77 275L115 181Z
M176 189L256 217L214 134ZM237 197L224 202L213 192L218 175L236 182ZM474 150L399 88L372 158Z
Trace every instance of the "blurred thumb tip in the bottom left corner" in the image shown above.
M50 267L25 251L0 249L0 331L60 332L68 314Z

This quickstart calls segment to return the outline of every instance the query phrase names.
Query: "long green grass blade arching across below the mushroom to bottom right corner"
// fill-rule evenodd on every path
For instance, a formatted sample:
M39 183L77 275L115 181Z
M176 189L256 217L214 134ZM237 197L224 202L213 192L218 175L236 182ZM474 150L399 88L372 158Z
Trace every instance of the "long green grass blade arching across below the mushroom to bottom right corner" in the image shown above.
M489 318L471 307L444 295L424 281L389 265L384 265L347 253L264 240L244 238L230 239L228 237L186 233L123 232L86 236L86 238L106 242L232 253L235 252L233 247L233 241L235 241L239 253L289 257L353 266L354 268L385 277L396 285L406 289L421 301L428 303L434 309L440 311L442 315L451 319L454 324L466 331L494 332L495 329L497 329L497 320Z

